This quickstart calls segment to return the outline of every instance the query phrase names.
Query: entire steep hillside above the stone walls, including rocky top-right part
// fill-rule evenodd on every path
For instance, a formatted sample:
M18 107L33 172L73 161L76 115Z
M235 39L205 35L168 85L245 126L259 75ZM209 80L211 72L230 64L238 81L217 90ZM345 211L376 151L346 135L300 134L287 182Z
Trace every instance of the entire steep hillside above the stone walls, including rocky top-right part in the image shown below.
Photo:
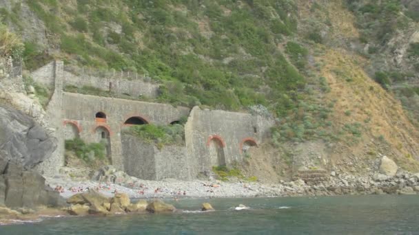
M134 70L161 84L151 101L274 115L272 136L252 154L271 156L276 177L296 167L367 172L380 153L419 170L417 9L369 0L0 1L3 23L25 42L26 69L60 58Z

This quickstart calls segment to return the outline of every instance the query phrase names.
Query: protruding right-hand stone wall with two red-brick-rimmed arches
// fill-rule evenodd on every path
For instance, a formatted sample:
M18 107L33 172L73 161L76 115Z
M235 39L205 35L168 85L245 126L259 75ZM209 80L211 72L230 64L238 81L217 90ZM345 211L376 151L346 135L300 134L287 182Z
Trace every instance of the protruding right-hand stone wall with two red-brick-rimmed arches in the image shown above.
M194 107L185 125L191 175L243 159L243 145L259 144L273 122L258 115ZM224 158L224 161L220 161Z

